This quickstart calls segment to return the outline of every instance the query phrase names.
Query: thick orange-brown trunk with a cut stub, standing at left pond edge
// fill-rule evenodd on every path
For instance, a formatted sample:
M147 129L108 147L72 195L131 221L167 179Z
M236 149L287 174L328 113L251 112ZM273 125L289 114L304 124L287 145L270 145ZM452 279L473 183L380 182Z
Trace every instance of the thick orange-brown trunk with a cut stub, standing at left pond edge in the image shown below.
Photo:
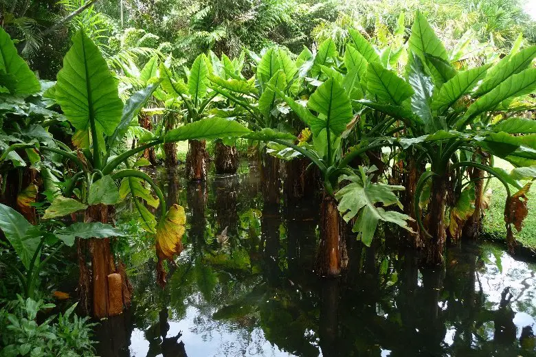
M109 213L107 205L91 205L85 211L84 220L108 223ZM91 273L86 266L85 249L91 256ZM120 263L119 268L115 267L110 238L91 238L87 245L78 242L78 264L82 308L89 312L91 301L93 316L103 318L120 314L123 306L129 305L132 286L126 277L124 266Z

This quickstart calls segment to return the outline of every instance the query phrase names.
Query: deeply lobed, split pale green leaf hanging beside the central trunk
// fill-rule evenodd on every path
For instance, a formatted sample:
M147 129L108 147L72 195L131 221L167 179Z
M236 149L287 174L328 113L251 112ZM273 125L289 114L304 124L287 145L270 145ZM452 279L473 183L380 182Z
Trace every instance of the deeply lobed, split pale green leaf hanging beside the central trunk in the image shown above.
M407 221L412 220L410 216L397 211L386 211L382 207L377 207L381 203L383 207L397 205L401 207L395 191L403 190L403 186L386 185L383 183L372 183L370 176L364 168L359 168L359 175L342 176L340 181L350 181L335 194L339 201L338 209L342 218L348 222L357 217L353 232L359 233L361 242L370 246L372 237L380 220L399 225L407 231L412 231Z

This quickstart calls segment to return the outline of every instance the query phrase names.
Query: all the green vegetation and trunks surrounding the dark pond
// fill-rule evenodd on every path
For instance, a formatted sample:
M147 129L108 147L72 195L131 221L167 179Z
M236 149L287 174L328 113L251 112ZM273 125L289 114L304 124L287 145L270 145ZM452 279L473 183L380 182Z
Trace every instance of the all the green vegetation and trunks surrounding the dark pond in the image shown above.
M320 277L385 227L428 266L483 232L536 246L536 23L516 1L0 6L0 356L91 356L74 306L38 314L60 268L80 314L130 306L131 235L166 286L188 215L161 161L203 183L249 157L267 210L320 194Z

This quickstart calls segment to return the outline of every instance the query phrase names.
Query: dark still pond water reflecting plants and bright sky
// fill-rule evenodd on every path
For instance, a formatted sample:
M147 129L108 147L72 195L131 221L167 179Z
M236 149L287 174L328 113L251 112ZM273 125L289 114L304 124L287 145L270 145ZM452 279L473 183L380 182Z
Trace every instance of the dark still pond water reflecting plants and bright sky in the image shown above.
M535 262L466 243L423 269L397 242L353 239L346 275L318 279L314 196L264 205L253 167L155 176L187 211L185 250L164 290L153 247L133 255L133 308L98 327L100 356L536 356Z

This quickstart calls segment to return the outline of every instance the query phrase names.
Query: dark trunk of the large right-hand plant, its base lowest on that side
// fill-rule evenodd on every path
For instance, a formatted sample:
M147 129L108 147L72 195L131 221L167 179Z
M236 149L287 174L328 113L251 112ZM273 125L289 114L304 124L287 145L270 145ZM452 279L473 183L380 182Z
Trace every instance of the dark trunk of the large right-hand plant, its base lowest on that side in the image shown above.
M447 194L447 176L434 176L428 203L428 233L432 235L425 244L426 264L443 263L445 250L445 196Z

